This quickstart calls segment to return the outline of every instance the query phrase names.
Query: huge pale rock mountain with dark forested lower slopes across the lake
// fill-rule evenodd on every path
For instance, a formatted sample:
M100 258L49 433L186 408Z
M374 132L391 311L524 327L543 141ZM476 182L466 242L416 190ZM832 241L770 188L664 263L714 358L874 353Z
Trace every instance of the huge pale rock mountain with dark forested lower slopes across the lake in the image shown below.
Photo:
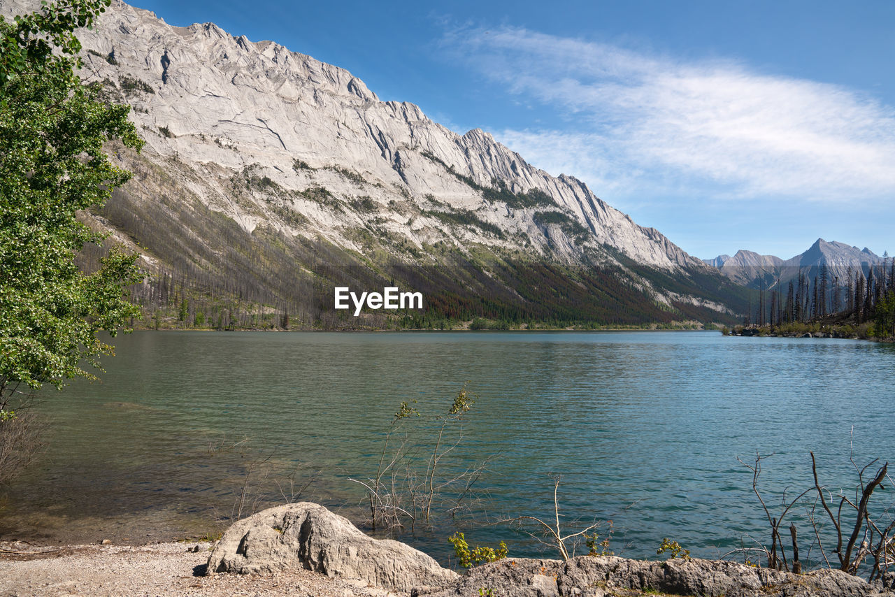
M141 252L149 275L134 298L148 312L183 304L182 320L226 322L238 311L250 326L291 312L316 325L345 319L326 312L333 286L384 282L421 290L444 319L743 311L725 277L581 181L481 129L461 135L381 101L337 66L117 0L78 35L81 78L131 104L146 140L140 154L110 146L134 178L84 217Z

